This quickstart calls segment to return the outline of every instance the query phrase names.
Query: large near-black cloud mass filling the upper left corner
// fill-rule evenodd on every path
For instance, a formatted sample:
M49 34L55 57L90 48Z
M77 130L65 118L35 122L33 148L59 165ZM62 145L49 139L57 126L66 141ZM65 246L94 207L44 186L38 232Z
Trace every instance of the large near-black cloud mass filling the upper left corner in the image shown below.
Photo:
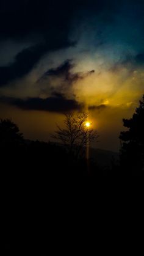
M23 42L26 38L34 42L18 53L12 64L0 67L0 86L26 75L43 54L74 45L68 38L71 12L66 1L0 2L0 40Z

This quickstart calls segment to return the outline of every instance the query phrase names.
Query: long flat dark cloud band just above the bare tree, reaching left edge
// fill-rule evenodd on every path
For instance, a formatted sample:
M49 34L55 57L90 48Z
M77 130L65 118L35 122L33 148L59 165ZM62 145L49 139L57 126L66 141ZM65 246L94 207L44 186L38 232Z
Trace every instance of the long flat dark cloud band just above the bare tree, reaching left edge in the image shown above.
M60 93L55 93L52 97L45 99L26 98L21 100L20 98L1 97L0 101L27 111L70 112L82 109L82 104L77 103L76 100L69 100Z

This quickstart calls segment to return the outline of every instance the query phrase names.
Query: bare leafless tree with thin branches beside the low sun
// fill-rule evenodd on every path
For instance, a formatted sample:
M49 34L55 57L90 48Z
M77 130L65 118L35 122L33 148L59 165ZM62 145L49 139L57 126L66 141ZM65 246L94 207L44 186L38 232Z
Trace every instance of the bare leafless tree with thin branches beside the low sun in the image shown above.
M57 130L52 137L62 142L70 154L73 153L78 157L87 144L98 139L97 131L86 126L87 119L88 113L66 114L65 128L57 125Z

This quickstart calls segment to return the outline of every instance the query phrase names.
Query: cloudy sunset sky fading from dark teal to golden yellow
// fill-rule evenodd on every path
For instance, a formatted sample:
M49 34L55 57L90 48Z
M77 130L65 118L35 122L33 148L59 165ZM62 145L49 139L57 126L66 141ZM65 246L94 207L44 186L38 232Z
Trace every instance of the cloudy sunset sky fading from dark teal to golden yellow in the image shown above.
M48 141L88 112L93 147L118 151L144 93L144 1L0 0L0 117Z

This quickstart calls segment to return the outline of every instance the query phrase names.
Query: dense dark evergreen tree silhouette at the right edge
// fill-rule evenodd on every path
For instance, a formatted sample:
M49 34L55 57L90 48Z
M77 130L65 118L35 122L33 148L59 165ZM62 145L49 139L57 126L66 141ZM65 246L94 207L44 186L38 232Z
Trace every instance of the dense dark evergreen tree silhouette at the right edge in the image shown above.
M121 167L129 174L140 175L144 170L144 95L131 119L123 119L128 131L121 131Z

